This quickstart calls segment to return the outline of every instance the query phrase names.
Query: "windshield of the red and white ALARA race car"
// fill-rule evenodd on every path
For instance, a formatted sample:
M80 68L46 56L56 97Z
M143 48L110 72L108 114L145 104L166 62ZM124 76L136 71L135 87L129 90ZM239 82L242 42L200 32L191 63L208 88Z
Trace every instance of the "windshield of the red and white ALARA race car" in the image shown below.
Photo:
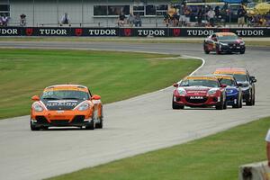
M206 80L206 79L186 79L181 82L180 86L192 86L192 85L199 85L199 86L207 86L207 87L219 87L219 83L213 80Z

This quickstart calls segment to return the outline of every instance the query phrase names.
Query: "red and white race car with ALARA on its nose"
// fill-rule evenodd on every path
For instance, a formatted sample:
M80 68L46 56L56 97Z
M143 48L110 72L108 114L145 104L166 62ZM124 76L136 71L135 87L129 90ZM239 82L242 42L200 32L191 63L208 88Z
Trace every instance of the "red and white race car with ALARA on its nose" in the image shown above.
M184 109L184 106L227 109L227 85L221 85L214 76L187 76L174 86L173 109Z

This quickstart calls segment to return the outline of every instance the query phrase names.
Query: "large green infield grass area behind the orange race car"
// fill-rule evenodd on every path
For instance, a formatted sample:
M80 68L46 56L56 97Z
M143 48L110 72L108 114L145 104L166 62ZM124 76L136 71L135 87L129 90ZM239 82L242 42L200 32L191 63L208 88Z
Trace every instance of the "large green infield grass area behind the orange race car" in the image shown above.
M112 103L153 92L191 73L200 60L132 52L0 49L0 119L30 113L48 85L87 85Z

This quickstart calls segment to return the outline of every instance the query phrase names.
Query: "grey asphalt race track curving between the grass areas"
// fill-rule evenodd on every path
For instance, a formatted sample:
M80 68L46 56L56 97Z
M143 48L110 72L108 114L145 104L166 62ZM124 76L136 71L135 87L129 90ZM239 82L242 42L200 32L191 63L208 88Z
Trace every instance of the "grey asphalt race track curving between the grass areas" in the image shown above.
M247 67L250 73L257 77L256 105L244 106L242 109L174 111L171 108L174 88L169 87L104 105L103 130L31 131L29 116L2 120L0 179L29 180L60 175L86 166L96 166L122 157L199 139L238 124L270 116L270 48L248 47L244 55L218 56L204 55L202 44L180 43L1 41L0 47L182 54L205 59L204 67L198 70L196 75L209 74L216 67Z

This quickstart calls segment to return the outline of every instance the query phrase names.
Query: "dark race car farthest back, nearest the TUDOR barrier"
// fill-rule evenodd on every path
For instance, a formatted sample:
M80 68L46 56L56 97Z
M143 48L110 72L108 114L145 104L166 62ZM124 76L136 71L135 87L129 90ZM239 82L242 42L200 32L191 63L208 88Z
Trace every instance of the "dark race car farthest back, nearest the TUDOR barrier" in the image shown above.
M203 40L203 49L205 54L209 54L211 51L215 51L217 54L221 52L244 54L246 46L244 40L241 40L235 33L216 32Z

